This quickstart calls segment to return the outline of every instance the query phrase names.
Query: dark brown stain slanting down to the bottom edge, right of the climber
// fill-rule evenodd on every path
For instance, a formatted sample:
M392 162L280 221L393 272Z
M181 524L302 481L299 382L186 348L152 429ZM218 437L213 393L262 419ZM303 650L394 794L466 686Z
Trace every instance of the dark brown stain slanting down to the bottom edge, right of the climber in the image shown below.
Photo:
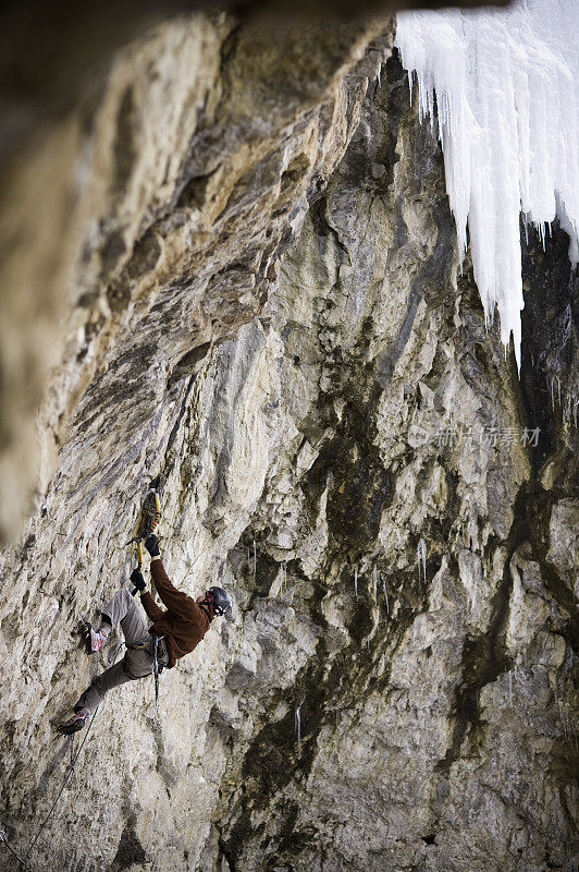
M261 562L262 558L260 559ZM276 569L279 566L276 566ZM349 585L348 570L343 570L343 581ZM292 571L299 573L297 561L293 561ZM323 633L318 642L315 656L298 673L292 688L279 692L272 700L271 707L284 701L287 705L285 716L274 723L266 724L254 737L245 755L242 767L243 798L237 803L233 815L235 823L229 835L222 835L221 849L232 870L237 868L237 860L243 857L244 844L248 833L251 840L257 839L260 831L256 832L251 823L251 811L255 808L267 808L273 797L281 796L275 801L272 814L279 815L281 823L280 838L272 843L271 836L268 846L275 846L275 853L269 859L266 869L276 869L276 863L283 862L292 868L292 858L303 853L316 836L313 826L303 826L296 831L296 816L292 803L283 795L284 788L291 782L304 784L311 772L313 761L319 750L318 738L320 731L331 717L343 710L352 710L360 705L372 693L387 692L390 670L375 678L372 675L375 659L382 655L386 647L395 651L401 644L404 633L410 626L417 611L424 608L424 591L414 596L410 592L416 588L416 582L406 577L398 579L396 586L394 580L389 579L393 596L398 596L405 589L412 601L407 601L406 608L398 613L396 621L380 620L372 639L371 649L360 646L360 633L368 634L372 629L370 618L370 602L368 600L368 585L360 583L359 610L353 607L350 630L352 642L336 656L330 654L325 646ZM322 588L323 585L320 585ZM310 601L312 619L322 627L327 621L321 610L323 590ZM383 618L386 617L384 614ZM355 632L356 629L356 632ZM298 742L296 736L296 708L300 710L301 736ZM361 706L364 708L364 705ZM264 846L262 846L264 847ZM239 868L243 868L239 865Z

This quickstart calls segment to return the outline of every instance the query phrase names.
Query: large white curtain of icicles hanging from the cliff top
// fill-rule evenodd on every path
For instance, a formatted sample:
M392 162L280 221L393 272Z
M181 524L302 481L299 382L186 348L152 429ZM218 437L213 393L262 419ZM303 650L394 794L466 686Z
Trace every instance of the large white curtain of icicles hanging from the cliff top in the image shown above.
M418 81L421 119L438 123L446 190L486 319L513 331L520 360L519 216L544 233L557 217L579 259L579 3L404 12L396 45Z

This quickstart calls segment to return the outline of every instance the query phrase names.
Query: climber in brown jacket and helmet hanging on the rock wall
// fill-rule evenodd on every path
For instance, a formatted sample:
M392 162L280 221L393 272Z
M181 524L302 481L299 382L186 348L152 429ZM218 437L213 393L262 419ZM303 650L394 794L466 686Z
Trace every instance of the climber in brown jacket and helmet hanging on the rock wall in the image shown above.
M171 584L155 534L148 536L145 547L151 557L150 570L157 593L167 610L155 603L146 590L141 572L135 569L131 574L136 589L134 593L140 591L140 602L152 626L147 629L144 616L126 588L118 591L104 606L98 630L84 621L83 632L89 654L103 647L118 623L125 637L126 653L120 663L93 679L74 706L73 716L59 726L59 732L70 735L82 729L111 688L151 675L156 656L159 671L165 666L172 668L175 661L197 646L215 616L224 615L227 620L233 620L232 603L223 588L209 588L204 596L193 600Z

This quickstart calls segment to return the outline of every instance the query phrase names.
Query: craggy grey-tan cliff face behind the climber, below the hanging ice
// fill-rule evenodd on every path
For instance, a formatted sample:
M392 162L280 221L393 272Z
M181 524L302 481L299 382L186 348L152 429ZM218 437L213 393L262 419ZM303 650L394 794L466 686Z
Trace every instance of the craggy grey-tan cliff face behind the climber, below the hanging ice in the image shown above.
M159 43L99 110L116 162L40 419L61 446L3 555L0 821L24 855L70 759L53 725L107 663L87 664L75 621L126 583L163 473L169 573L232 590L237 620L163 674L159 715L149 680L111 693L32 862L569 867L577 432L544 403L550 340L533 377L528 340L521 390L459 274L438 143L397 61L374 77L387 33L323 51L286 34L272 56L204 26L214 77L180 104L197 138L167 85L156 147L134 135ZM189 38L155 37L187 70ZM298 47L301 84L275 66ZM549 317L572 311L572 276L528 258L530 310L556 284ZM557 341L571 385L572 318Z

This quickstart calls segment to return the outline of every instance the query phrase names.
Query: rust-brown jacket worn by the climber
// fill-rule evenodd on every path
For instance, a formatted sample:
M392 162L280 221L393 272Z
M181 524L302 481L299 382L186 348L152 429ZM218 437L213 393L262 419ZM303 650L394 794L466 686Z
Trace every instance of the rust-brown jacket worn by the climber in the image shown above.
M168 667L171 668L175 665L175 661L189 654L199 644L209 629L211 619L202 608L199 608L195 600L171 584L161 560L152 560L151 576L167 611L159 608L148 591L143 591L140 602L152 620L151 632L165 638L169 652Z

